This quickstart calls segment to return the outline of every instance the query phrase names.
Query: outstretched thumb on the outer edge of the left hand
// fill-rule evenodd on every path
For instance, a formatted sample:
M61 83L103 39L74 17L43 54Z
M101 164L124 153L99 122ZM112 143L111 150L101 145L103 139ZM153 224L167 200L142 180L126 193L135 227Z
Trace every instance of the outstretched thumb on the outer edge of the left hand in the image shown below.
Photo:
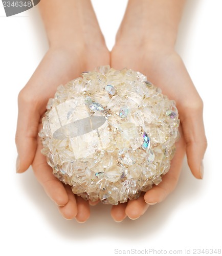
M15 135L18 152L17 173L25 172L32 164L35 156L40 115L34 97L35 95L30 95L29 90L25 88L18 95L18 119Z

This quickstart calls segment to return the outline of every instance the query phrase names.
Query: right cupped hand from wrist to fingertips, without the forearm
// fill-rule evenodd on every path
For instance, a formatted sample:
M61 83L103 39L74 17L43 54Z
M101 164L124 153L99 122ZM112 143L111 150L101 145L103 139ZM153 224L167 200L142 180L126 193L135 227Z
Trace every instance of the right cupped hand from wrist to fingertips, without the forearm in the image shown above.
M116 221L126 216L137 219L149 205L160 203L175 188L180 176L186 152L188 165L197 179L203 178L203 158L207 140L203 123L203 101L184 66L181 57L171 48L150 42L130 44L130 40L117 43L111 53L111 65L115 69L130 68L140 71L147 79L162 89L169 99L174 99L181 121L181 138L176 143L176 153L169 172L158 186L127 204L113 206L112 217Z

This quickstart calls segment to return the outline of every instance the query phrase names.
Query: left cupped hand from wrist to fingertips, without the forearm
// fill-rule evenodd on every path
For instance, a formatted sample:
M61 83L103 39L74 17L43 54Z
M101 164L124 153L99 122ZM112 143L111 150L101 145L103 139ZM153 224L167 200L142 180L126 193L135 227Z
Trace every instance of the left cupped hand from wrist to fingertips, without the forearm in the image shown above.
M81 72L109 63L109 52L105 46L85 48L51 48L43 57L36 71L19 93L18 120L15 142L18 158L17 173L23 173L32 165L34 174L48 196L55 202L65 219L76 218L85 222L90 216L87 201L75 196L70 186L63 185L52 174L46 157L40 152L38 137L41 118L46 111L49 98L53 98L57 87L76 77Z

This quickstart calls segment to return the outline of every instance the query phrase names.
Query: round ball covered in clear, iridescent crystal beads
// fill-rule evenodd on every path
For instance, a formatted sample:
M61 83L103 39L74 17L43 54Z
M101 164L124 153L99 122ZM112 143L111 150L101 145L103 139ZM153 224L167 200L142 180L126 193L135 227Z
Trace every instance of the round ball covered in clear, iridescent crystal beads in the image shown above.
M104 204L137 199L170 168L179 139L173 100L140 72L83 72L50 99L39 136L53 174Z

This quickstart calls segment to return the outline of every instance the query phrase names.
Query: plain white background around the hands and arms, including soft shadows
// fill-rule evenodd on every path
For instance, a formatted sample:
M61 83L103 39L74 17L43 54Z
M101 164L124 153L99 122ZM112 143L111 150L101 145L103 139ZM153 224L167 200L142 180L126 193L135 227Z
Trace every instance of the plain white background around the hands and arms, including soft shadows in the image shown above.
M93 0L93 4L112 49L126 0ZM222 1L189 0L176 46L205 104L209 145L204 180L196 180L184 161L175 191L163 203L149 207L140 219L115 223L110 206L100 204L92 208L84 224L59 215L31 169L15 173L17 95L48 44L37 7L5 17L0 5L0 255L115 255L115 248L184 252L221 248Z

